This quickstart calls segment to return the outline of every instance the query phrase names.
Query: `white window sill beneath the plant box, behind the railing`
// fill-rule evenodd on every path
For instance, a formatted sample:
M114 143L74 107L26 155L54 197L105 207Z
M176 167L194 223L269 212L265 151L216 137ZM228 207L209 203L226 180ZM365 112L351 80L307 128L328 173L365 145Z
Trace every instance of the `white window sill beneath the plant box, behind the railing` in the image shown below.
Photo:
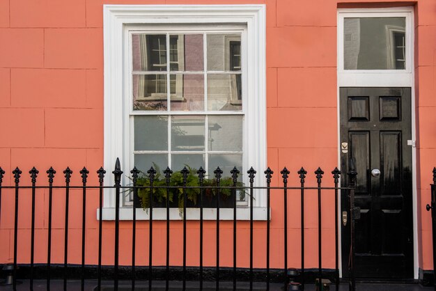
M150 210L145 211L141 208L137 208L137 220L148 220L150 219ZM187 208L187 220L200 220L200 208ZM97 210L97 220L100 216L100 210ZM236 217L238 221L248 221L250 220L250 208L249 207L238 207L236 209ZM102 213L102 220L113 221L115 220L115 208L114 207L104 207ZM120 221L129 221L133 219L132 207L120 207ZM169 210L170 220L182 220L183 218L179 215L178 208L170 208ZM217 219L217 209L216 208L203 208L203 220L216 220ZM221 221L233 220L233 208L221 208L219 211L219 219ZM165 208L155 208L153 209L153 221L163 221L166 220L166 209ZM267 220L267 207L254 207L253 208L253 220L254 221L266 221Z

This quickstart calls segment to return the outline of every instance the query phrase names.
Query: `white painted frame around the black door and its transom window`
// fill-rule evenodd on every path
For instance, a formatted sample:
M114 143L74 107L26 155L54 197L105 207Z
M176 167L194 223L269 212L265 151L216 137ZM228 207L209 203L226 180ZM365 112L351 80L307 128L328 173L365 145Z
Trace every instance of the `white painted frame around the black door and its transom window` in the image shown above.
M345 17L406 17L406 70L343 70L343 19ZM415 114L415 81L414 81L414 8L339 8L337 18L337 126L338 145L341 143L340 126L341 110L339 108L340 87L410 87L412 111L412 140L416 140L416 114ZM410 65L407 65L409 63ZM341 151L338 146L338 165L341 165ZM346 173L343 173L343 175ZM338 200L341 209L341 199ZM418 212L416 189L416 148L412 147L412 208L413 208L413 244L414 244L414 278L419 277L419 249L418 249ZM341 212L338 213L339 237L341 237ZM338 246L339 276L342 277L341 238Z

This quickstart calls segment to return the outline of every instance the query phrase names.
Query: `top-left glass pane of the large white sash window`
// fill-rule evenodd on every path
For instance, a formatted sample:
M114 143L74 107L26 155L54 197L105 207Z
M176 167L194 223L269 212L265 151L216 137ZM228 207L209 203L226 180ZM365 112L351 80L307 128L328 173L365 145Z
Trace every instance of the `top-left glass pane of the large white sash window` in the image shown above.
M133 34L132 63L134 71L166 71L166 36Z

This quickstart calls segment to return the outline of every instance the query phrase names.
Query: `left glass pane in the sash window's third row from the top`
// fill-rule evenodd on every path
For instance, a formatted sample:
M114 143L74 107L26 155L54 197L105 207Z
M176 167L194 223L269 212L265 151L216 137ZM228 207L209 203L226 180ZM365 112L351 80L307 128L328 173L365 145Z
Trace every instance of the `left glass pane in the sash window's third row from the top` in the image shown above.
M168 150L168 118L134 116L134 150Z

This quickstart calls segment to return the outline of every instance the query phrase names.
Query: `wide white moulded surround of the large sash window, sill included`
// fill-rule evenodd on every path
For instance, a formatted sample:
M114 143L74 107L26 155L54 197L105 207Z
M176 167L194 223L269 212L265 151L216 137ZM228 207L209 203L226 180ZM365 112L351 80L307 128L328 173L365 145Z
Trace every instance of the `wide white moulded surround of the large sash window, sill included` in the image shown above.
M131 166L128 158L129 132L126 108L131 97L125 95L126 26L150 24L237 24L247 27L247 88L244 92L244 161L247 171L258 171L255 187L265 187L266 168L266 84L265 84L265 5L104 5L104 168L108 171L104 184L114 185L116 157L120 157L123 184L128 184ZM126 142L127 141L127 142ZM127 155L126 155L127 153ZM244 174L244 173L242 173ZM245 176L247 173L244 174ZM120 198L123 199L123 198ZM123 205L123 200L120 201ZM115 218L114 191L104 191L103 219ZM137 219L148 219L148 212L137 209ZM162 212L162 213L161 213ZM266 197L254 200L254 219L266 220ZM171 219L181 219L178 209L171 209ZM205 219L215 219L216 210L205 208ZM233 210L221 209L223 220L233 219ZM120 219L132 219L132 207L120 208ZM165 210L153 210L153 219L166 219ZM198 208L188 209L187 219L199 219ZM237 219L249 219L249 207L238 207Z

